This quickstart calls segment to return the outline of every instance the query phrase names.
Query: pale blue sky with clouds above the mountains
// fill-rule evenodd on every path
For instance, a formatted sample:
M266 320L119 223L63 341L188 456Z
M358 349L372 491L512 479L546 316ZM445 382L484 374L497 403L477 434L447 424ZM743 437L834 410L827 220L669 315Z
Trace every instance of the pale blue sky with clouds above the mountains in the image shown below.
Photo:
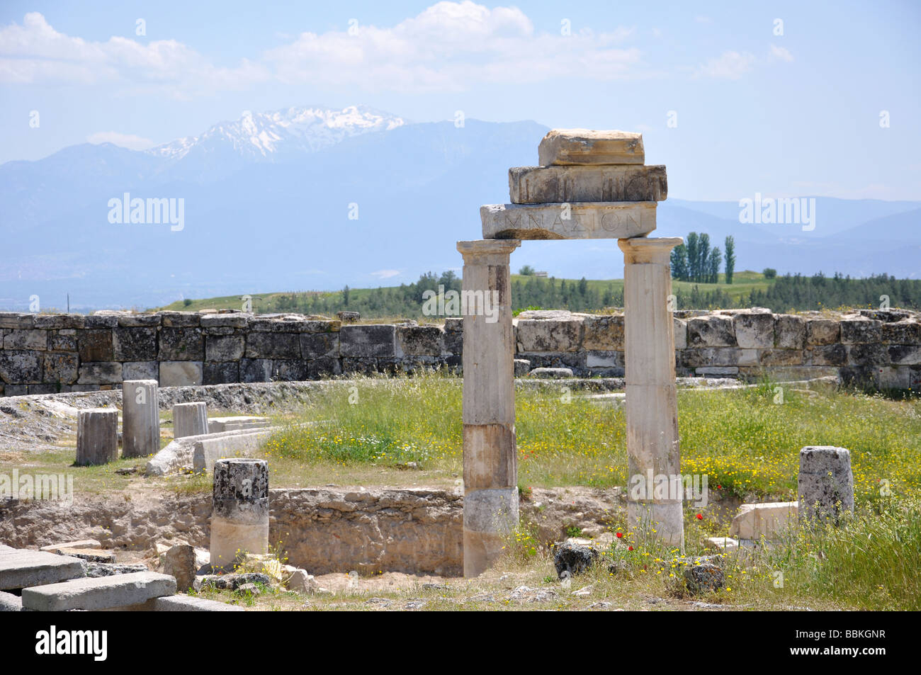
M364 104L641 131L682 199L916 200L919 33L917 2L5 2L0 162Z

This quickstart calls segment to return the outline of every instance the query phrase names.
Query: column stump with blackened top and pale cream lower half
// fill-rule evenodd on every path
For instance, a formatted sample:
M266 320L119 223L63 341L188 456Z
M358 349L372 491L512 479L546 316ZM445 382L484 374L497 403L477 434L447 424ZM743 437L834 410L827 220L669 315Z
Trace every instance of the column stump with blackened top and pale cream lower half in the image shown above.
M227 568L242 553L268 552L268 462L217 460L211 514L211 566Z

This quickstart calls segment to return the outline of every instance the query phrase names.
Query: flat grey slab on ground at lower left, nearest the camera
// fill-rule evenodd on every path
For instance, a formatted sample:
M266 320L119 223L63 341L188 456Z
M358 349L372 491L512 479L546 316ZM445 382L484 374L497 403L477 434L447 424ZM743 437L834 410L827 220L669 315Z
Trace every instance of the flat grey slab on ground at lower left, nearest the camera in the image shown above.
M176 579L156 572L73 579L22 589L26 611L108 610L176 593Z

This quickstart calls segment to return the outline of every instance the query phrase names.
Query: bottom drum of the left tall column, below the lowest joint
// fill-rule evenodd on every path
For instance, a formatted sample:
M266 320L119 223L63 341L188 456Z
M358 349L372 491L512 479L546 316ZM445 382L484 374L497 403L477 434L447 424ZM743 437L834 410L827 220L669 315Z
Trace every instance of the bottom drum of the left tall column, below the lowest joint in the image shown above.
M518 487L473 490L463 497L463 575L483 574L519 523Z

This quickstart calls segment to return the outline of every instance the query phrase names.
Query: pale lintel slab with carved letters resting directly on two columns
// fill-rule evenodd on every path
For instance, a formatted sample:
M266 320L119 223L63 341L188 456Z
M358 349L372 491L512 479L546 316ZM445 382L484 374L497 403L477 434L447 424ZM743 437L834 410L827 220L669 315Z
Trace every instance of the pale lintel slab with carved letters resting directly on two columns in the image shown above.
M630 239L656 229L656 202L485 204L484 239Z

